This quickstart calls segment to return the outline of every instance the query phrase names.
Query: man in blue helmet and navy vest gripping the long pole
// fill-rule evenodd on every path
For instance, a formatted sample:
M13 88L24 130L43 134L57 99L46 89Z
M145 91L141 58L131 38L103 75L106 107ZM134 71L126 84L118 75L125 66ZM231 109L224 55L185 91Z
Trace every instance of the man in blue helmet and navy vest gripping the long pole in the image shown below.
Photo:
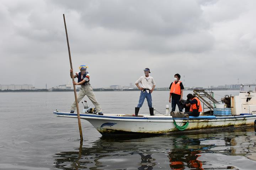
M80 87L80 91L78 93L77 96L77 100L78 103L82 100L82 98L84 98L84 96L86 95L92 102L92 104L94 104L98 115L103 115L102 113L102 109L100 104L98 103L95 95L94 95L94 91L92 90L91 84L89 83L90 81L90 74L86 71L87 70L87 66L85 65L81 65L79 67L80 72L74 74L74 78L78 78L78 83L76 83L75 81L73 82L74 85L81 85ZM72 78L72 74L73 74L73 69L70 69L70 77ZM70 113L74 113L76 108L76 102L73 102L71 104L71 111Z

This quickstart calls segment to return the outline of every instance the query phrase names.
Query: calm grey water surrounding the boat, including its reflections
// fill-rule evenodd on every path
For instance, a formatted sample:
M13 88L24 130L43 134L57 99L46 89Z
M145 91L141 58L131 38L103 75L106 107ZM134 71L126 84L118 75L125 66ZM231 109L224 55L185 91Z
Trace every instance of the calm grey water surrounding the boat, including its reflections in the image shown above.
M95 94L103 113L133 113L139 98L138 91ZM215 97L219 100L224 94L237 95L238 91L216 91ZM153 92L153 104L161 113L165 113L168 95L167 91ZM69 111L73 100L73 92L0 93L0 169L256 169L254 127L102 137L81 120L84 141L80 145L77 119L52 114L55 109ZM140 113L149 114L146 103Z

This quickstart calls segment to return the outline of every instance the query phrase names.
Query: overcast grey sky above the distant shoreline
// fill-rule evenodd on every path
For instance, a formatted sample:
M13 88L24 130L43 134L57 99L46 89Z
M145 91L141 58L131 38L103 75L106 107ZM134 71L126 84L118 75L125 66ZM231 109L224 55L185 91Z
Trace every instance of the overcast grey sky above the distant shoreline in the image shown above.
M0 84L128 85L148 67L157 87L255 83L255 0L0 0ZM185 78L183 77L185 75ZM185 79L185 80L184 80Z

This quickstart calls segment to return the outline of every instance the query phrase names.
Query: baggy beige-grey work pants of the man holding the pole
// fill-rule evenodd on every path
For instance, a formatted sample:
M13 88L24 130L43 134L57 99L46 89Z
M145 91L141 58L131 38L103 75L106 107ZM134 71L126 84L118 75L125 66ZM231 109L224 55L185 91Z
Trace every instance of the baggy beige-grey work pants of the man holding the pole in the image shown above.
M97 113L102 112L100 103L98 103L95 95L94 95L94 91L92 90L91 85L84 85L80 87L80 91L77 95L78 98L78 103L82 100L82 98L84 98L84 96L87 96L90 101L92 102L92 104L94 104L95 108L97 109ZM76 103L75 101L71 104L71 111L75 111L76 109Z

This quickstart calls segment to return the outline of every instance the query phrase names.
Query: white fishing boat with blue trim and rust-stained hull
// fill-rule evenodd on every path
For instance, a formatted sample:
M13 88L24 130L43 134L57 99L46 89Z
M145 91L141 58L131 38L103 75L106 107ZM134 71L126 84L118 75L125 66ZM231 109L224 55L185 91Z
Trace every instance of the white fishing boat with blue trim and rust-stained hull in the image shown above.
M245 88L249 89L244 90ZM86 113L93 109L86 107L83 111L84 113L80 113L80 119L89 121L101 134L168 134L180 130L191 131L221 127L235 128L256 124L255 85L241 85L239 95L228 98L230 99L229 109L231 114L226 116L202 115L199 117L173 118L170 116L168 107L166 108L166 115L141 115L139 117L129 114L97 115ZM77 118L76 113L58 111L53 113L58 117Z

